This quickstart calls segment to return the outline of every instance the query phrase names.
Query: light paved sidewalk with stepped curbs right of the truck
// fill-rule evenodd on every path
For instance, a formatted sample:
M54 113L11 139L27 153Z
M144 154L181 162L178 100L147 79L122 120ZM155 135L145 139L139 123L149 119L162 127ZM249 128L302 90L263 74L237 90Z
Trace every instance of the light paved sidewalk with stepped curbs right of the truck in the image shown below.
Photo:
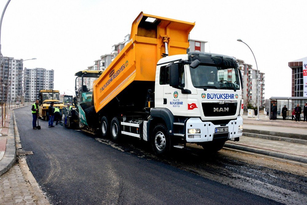
M259 115L259 119L243 115L243 136L239 142L227 141L225 147L307 166L307 122L269 120L266 115Z

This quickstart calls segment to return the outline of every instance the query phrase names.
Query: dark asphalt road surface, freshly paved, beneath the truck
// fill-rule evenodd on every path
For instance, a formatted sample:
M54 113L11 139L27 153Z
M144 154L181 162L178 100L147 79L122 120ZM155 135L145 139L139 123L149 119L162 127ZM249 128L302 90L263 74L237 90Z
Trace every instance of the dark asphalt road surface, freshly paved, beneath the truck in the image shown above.
M15 110L26 160L54 204L303 204L306 168L232 151L174 150L159 159L135 138L119 144Z

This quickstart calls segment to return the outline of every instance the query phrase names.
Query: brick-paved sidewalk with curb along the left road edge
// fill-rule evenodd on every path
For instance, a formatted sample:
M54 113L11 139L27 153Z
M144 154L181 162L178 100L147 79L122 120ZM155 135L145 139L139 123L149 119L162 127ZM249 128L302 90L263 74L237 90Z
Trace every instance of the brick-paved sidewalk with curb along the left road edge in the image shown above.
M0 204L49 204L42 194L24 156L16 160L16 148L22 152L14 111L6 117L0 136ZM17 144L16 144L17 143ZM15 163L16 162L16 163Z

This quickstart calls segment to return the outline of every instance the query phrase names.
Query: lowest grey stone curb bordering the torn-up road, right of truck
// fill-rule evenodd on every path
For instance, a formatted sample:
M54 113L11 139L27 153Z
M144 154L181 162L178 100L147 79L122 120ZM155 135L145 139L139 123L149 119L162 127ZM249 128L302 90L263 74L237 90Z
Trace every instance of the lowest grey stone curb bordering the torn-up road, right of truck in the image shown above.
M224 146L227 147L227 148L233 148L233 149L243 150L243 151L247 151L247 152L253 152L253 153L267 155L267 156L273 156L273 157L277 157L277 158L281 158L281 159L285 159L285 160L292 160L292 161L307 164L307 157L303 157L303 156L296 156L296 155L292 155L292 154L274 152L274 151L270 151L270 150L247 147L247 146L238 145L238 144L226 143Z

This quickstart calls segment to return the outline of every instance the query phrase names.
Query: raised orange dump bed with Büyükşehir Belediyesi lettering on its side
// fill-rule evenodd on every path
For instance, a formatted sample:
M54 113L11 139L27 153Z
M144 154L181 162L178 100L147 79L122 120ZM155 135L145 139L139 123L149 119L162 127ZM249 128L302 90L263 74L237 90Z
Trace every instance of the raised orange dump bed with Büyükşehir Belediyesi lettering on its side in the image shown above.
M165 42L169 55L186 54L188 34L194 26L195 23L141 12L132 23L130 41L94 82L96 112L133 82L153 82L154 85L156 65L165 53Z

